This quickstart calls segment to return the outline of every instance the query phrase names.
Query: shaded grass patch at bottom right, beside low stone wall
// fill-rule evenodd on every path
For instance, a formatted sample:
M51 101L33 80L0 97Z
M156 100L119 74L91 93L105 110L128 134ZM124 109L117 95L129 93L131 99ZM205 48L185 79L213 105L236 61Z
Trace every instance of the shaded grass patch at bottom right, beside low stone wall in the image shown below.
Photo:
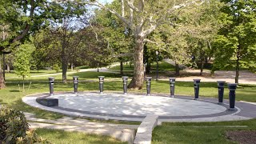
M224 126L248 127L227 128ZM226 138L226 132L230 130L256 130L256 120L234 122L164 122L162 126L157 126L154 129L152 143L236 143Z

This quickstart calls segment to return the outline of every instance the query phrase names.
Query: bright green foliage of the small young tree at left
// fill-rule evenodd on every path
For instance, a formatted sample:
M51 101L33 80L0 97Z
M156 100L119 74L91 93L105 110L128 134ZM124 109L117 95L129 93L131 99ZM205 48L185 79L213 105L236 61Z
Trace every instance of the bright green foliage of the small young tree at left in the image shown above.
M30 58L34 49L35 47L30 44L23 44L19 46L14 58L15 74L22 78L25 78L30 74Z

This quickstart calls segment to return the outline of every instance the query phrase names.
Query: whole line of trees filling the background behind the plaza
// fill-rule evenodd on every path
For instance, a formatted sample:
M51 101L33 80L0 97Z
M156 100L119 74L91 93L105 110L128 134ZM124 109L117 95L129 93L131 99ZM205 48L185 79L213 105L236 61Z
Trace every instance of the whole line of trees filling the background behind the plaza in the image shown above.
M139 89L144 64L149 73L158 50L161 58L174 60L177 75L179 65L197 66L202 74L211 61L213 72L234 67L238 83L241 66L255 68L256 2L186 2L2 2L0 50L14 53L29 42L35 46L31 65L37 70L62 67L63 82L68 66L100 67L118 61L122 73L122 63L129 61L134 63L130 88ZM100 9L92 13L88 4ZM7 10L8 6L18 9ZM7 59L11 64L14 54Z

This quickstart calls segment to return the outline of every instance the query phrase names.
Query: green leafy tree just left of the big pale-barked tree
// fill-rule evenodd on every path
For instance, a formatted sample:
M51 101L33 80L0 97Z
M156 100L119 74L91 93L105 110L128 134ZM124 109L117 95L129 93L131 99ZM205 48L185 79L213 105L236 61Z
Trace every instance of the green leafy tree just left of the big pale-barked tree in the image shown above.
M121 11L120 2L114 1L107 5L110 9ZM122 13L124 16L124 13ZM120 62L120 73L123 74L123 62L130 59L130 53L133 50L133 37L130 29L123 24L114 14L106 12L106 10L96 10L93 23L97 23L95 33L101 34L108 42L108 48L112 50L113 60Z

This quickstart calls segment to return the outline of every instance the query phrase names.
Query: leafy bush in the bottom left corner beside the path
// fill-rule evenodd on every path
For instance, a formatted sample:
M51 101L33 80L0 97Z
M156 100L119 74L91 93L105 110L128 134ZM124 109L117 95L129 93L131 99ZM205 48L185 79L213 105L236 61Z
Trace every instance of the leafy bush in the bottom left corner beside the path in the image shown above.
M0 143L50 143L29 129L25 115L3 106L0 109Z

